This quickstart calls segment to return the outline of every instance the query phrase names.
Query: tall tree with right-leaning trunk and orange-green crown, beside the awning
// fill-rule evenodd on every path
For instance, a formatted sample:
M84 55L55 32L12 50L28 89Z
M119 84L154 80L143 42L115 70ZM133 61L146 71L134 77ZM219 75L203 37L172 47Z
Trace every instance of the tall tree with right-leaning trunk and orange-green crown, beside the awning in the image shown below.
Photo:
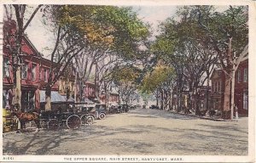
M57 65L51 69L51 74L55 73L55 77L49 78L49 91L46 95L49 99L50 87L76 55L88 55L92 58L86 64L85 56L85 65L79 65L81 69L89 66L85 76L84 70L80 70L80 77L86 80L92 65L104 59L106 53L132 59L139 44L148 36L147 26L137 19L137 14L131 12L131 8L63 5L51 6L49 11L57 36L55 48L51 53L52 65L55 65L54 61ZM83 59L84 56L78 57L76 62L79 64ZM50 108L50 105L47 108Z

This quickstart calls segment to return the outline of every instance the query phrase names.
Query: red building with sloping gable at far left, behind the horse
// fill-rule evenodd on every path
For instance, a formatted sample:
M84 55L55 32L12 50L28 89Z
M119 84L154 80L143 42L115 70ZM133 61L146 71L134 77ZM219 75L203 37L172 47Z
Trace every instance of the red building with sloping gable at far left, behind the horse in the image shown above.
M10 36L15 36L16 23L14 20L5 21L3 30L8 29ZM3 31L6 32L6 31ZM3 37L3 39L7 39ZM11 40L12 38L10 38ZM32 45L32 42L24 35L22 37L21 54L21 110L31 110L40 108L40 92L49 78L50 60L44 59L38 50ZM13 98L13 61L12 53L8 45L3 44L3 108L10 108ZM52 87L57 91L58 86Z

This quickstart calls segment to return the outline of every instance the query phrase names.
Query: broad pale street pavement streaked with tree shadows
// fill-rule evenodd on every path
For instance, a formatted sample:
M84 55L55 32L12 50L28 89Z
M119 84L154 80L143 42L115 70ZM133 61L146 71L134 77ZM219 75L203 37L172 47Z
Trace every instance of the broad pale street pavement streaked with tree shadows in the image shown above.
M3 133L3 155L247 155L247 122L137 109L78 130Z

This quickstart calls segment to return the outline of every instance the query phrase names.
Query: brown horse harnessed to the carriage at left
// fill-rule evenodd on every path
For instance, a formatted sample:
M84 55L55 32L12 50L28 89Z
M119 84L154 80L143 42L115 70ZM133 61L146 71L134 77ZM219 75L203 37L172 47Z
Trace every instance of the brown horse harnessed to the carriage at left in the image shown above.
M15 115L19 119L21 131L26 130L26 122L35 121L37 125L36 132L38 132L40 128L40 115L36 111L30 111L25 113L22 113L21 111L15 111L12 112L12 115Z

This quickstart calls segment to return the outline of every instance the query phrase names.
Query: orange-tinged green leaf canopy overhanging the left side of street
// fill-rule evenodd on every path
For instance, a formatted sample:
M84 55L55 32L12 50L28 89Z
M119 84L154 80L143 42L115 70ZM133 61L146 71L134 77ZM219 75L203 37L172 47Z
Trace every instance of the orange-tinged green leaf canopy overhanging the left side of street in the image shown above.
M57 25L79 31L90 46L110 48L125 59L137 57L149 35L148 25L131 8L94 5L54 6Z

